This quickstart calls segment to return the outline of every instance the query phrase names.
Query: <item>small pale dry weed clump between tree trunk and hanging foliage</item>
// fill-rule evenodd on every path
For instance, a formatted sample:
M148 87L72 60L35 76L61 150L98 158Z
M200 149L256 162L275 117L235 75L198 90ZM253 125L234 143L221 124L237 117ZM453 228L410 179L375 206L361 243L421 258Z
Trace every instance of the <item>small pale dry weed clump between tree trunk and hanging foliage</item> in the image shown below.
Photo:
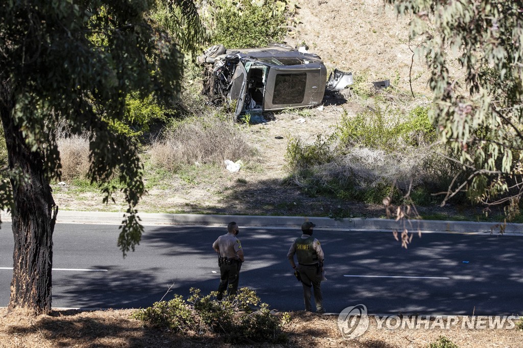
M71 136L58 140L62 162L62 180L83 178L89 171L89 141L86 137Z

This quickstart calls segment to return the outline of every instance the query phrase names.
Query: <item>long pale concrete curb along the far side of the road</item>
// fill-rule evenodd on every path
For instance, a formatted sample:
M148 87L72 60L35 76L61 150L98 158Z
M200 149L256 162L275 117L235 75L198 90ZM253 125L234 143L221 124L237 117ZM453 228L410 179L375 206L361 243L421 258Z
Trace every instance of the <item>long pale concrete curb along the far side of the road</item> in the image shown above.
M9 220L10 214L2 211L2 221ZM85 224L121 224L123 213L111 212L77 212L59 211L57 223L85 223ZM395 221L379 218L344 218L332 219L328 217L305 216L258 216L258 215L198 215L198 214L159 214L141 213L139 217L144 225L218 225L225 226L235 221L240 226L274 226L299 228L305 221L316 224L316 228L334 228L344 230L369 231L433 231L456 233L484 234L499 232L523 234L523 224L487 223L487 222L459 222L459 221L431 221L412 220Z

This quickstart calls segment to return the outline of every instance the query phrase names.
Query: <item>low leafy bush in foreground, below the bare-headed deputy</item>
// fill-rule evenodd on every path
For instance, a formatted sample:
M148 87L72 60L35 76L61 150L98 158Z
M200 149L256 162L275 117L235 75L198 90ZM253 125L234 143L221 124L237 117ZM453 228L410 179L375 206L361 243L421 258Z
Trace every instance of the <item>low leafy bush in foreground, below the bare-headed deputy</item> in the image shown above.
M260 303L256 293L248 288L236 296L219 301L215 292L202 296L200 289L191 288L185 301L181 296L152 307L141 309L133 317L161 328L177 332L211 330L227 343L282 343L287 341L283 326L289 321L273 315L267 304Z

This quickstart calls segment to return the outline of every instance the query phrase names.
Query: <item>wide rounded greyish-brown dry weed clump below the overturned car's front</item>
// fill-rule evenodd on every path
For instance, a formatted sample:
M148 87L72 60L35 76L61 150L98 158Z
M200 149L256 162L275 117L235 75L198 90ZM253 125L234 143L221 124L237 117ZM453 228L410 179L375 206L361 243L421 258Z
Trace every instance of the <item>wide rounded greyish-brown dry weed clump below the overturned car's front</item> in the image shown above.
M254 148L234 122L218 117L198 117L177 124L164 140L153 144L153 165L175 170L180 165L217 164L225 159L246 159Z

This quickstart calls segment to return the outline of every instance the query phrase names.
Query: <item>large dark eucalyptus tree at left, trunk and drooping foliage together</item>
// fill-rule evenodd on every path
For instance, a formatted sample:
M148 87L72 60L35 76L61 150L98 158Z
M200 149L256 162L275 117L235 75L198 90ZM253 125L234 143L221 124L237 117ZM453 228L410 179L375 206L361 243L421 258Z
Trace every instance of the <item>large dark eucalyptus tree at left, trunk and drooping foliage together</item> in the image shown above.
M104 202L121 190L127 202L118 246L125 255L142 234L136 206L144 192L137 144L111 126L122 120L126 96L180 91L184 56L151 14L181 15L185 49L203 31L192 0L18 0L0 4L0 118L9 180L0 203L12 211L15 248L9 308L51 309L52 234L58 213L51 180L60 179L53 133L65 119L73 134L89 134L89 177ZM109 179L119 182L107 185Z

